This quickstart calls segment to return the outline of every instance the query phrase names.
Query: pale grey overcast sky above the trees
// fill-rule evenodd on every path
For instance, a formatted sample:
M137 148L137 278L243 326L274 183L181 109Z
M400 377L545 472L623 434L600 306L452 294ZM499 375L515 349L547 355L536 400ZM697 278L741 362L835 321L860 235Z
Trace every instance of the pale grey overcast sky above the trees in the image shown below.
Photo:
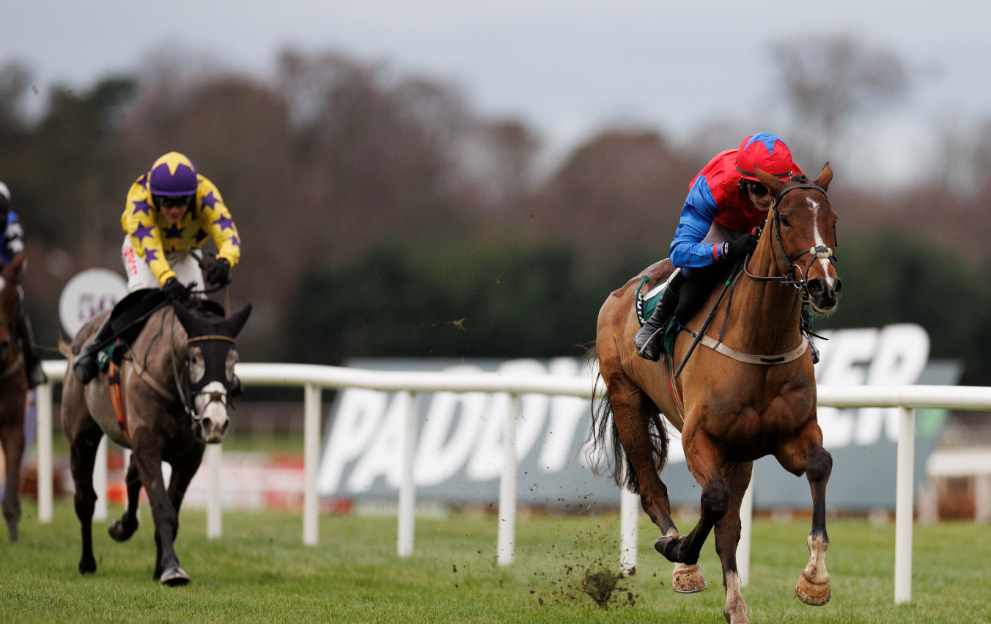
M935 128L991 116L989 17L967 0L0 0L0 61L26 63L39 88L81 88L163 45L259 76L286 46L339 49L454 82L474 110L520 117L563 151L616 122L682 140L720 119L766 123L783 111L762 95L770 44L850 33L916 72L864 135L894 180L916 173Z

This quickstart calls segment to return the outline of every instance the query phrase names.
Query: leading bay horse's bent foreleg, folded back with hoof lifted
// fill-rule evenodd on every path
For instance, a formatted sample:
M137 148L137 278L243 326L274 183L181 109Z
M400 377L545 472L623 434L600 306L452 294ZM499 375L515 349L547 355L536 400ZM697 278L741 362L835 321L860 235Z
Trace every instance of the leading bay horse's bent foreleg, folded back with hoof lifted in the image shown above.
M702 516L691 533L660 537L654 548L670 561L694 564L709 532L729 510L730 489L722 476L723 462L718 449L705 430L694 432L685 446L685 459L688 469L702 485Z

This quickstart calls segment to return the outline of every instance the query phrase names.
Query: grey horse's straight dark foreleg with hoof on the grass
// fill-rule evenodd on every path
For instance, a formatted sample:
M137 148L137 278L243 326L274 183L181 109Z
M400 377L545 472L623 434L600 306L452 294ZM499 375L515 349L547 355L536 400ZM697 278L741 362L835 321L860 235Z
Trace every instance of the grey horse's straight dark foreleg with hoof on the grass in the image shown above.
M162 447L165 442L148 427L135 430L131 438L134 447L132 457L137 458L138 475L148 493L151 517L155 521L154 580L172 587L189 583L189 575L179 567L179 557L175 554L175 539L178 518L162 475Z

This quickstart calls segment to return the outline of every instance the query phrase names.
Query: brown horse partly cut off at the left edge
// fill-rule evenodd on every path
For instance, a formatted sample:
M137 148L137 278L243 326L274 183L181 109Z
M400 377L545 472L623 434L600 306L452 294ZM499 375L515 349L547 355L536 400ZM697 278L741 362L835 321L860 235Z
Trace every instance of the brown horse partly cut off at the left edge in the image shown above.
M24 407L27 404L28 379L24 354L17 340L14 324L21 305L17 276L24 264L19 253L0 272L0 443L6 470L3 494L3 519L7 536L17 541L17 524L21 519L21 460L24 457Z

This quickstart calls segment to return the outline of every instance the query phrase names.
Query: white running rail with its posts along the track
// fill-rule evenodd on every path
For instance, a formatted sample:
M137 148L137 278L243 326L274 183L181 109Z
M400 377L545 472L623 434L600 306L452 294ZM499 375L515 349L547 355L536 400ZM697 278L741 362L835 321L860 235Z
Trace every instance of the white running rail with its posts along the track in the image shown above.
M46 361L45 373L52 382L59 382L66 372L66 362ZM304 474L303 542L316 545L318 539L319 499L316 476L320 455L321 390L324 388L364 388L383 392L409 393L405 420L403 453L404 466L400 487L400 514L397 551L400 556L413 552L413 511L415 488L412 476L412 450L416 440L415 397L422 392L488 392L510 395L504 421L505 440L515 440L516 416L522 394L566 395L584 399L592 397L591 379L580 377L525 377L499 373L449 375L435 372L386 372L338 366L308 364L238 364L237 375L248 386L288 386L304 389ZM599 386L599 395L603 393ZM52 520L52 385L38 387L38 520ZM991 410L991 388L964 386L819 386L818 404L824 407L898 407L901 408L898 435L897 502L895 512L895 604L909 602L912 597L912 510L913 456L915 449L915 410L919 408L953 410ZM507 445L509 447L510 445ZM219 449L218 449L219 450ZM506 457L513 459L511 448ZM220 485L220 453L207 454L211 488ZM513 561L516 526L516 462L503 463L499 488L498 561L509 565ZM95 484L94 484L95 485ZM98 492L105 492L98 489ZM219 537L220 492L210 493L208 533ZM624 493L621 497L620 565L636 565L637 497ZM749 572L750 517L744 514L741 545L746 561L741 571Z

